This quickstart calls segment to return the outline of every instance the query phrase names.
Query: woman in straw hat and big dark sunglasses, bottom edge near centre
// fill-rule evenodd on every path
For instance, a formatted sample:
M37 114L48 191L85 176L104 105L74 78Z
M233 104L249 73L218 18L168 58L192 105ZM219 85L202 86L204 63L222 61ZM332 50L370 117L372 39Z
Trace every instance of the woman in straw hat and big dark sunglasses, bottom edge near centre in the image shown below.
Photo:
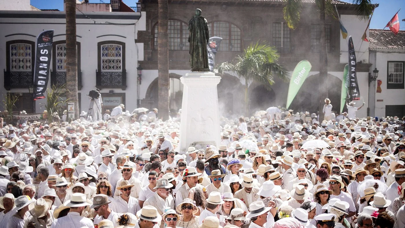
M196 213L198 213L198 208L194 200L185 198L183 202L177 205L176 211L181 214L180 219L177 222L179 227L198 227L198 219L200 217L196 215Z

